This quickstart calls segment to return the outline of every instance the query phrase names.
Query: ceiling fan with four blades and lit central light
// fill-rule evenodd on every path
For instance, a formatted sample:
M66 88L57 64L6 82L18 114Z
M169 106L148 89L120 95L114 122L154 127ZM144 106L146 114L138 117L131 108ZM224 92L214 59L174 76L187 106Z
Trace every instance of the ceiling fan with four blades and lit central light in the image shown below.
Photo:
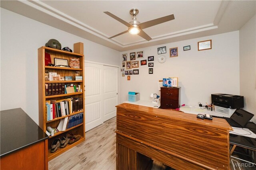
M144 28L148 28L148 27L152 27L154 25L157 25L157 24L160 24L160 23L164 23L164 22L167 22L167 21L170 21L170 20L174 20L174 15L169 15L169 16L164 16L164 17L161 17L161 18L157 18L155 20L151 20L151 21L146 21L146 22L143 22L143 23L140 23L139 21L137 21L137 19L135 18L136 15L139 13L139 10L136 9L136 8L133 8L130 10L130 14L132 15L132 21L130 21L129 23L122 20L121 18L118 18L117 16L115 16L114 14L111 14L110 12L106 11L104 12L105 14L107 14L108 16L114 18L115 20L118 20L119 22L121 22L122 24L126 25L128 27L128 30L122 32L122 33L119 33L119 34L116 34L112 37L109 37L108 39L111 39L111 38L114 38L118 35L122 35L124 33L131 33L131 34L138 34L140 35L140 37L150 41L152 38L150 36L148 36L148 34L146 34L142 29Z

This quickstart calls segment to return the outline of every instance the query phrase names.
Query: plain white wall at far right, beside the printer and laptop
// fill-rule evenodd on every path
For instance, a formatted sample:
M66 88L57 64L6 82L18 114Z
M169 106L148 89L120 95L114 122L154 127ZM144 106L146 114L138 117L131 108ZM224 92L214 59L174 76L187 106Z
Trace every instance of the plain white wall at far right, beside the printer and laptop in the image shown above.
M240 94L245 98L244 109L256 114L256 16L239 31ZM256 116L252 119L256 123Z

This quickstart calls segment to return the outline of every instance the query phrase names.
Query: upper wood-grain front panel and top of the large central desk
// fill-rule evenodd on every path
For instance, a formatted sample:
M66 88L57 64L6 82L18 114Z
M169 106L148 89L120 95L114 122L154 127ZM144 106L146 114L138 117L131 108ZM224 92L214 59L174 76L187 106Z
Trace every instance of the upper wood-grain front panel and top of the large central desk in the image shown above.
M176 156L188 166L229 168L232 128L226 121L201 120L188 113L132 104L116 107L118 134Z

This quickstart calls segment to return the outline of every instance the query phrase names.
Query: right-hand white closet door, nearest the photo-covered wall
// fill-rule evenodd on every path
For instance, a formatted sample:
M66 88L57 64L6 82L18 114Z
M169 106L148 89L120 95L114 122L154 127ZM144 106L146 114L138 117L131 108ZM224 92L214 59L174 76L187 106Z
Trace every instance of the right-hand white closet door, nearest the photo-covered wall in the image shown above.
M103 120L107 121L116 116L116 105L118 104L118 68L104 65L103 72Z

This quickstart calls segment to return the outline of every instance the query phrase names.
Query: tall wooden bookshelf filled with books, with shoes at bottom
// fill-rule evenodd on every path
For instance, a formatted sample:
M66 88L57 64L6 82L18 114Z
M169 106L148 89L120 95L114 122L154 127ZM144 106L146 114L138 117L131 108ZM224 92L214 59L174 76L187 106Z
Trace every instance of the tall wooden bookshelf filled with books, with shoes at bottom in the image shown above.
M56 67L56 66L45 66L45 53L50 54L50 59L52 64L54 64L54 58L65 59L68 60L68 64L70 64L70 58L79 58L80 59L80 68L68 68L68 67ZM45 72L57 72L60 76L74 76L76 72L80 72L80 76L82 76L82 80L66 80L66 81L46 81L45 80ZM65 83L65 84L74 84L76 86L80 85L82 92L74 92L70 94L57 94L52 96L46 96L46 83ZM49 100L65 100L68 98L82 98L83 99L83 111L76 111L69 115L64 115L62 117L56 117L50 121L47 121L47 113L46 113L46 101ZM50 47L40 47L38 49L38 104L39 104L39 126L43 131L46 132L46 128L48 126L52 128L57 128L61 119L65 117L70 117L72 115L76 115L78 113L84 113L84 55L78 53L70 53L68 51L62 51L58 49L53 49ZM59 131L54 134L54 136L48 139L48 146L46 146L46 150L48 150L48 160L55 158L56 156L62 154L68 149L76 146L85 140L85 113L83 114L83 122L79 125L66 129L66 131ZM81 138L79 141L76 141L72 145L67 145L64 148L58 149L56 152L51 153L51 145L54 139L62 138L66 136L67 133L73 133L74 135L80 135Z

